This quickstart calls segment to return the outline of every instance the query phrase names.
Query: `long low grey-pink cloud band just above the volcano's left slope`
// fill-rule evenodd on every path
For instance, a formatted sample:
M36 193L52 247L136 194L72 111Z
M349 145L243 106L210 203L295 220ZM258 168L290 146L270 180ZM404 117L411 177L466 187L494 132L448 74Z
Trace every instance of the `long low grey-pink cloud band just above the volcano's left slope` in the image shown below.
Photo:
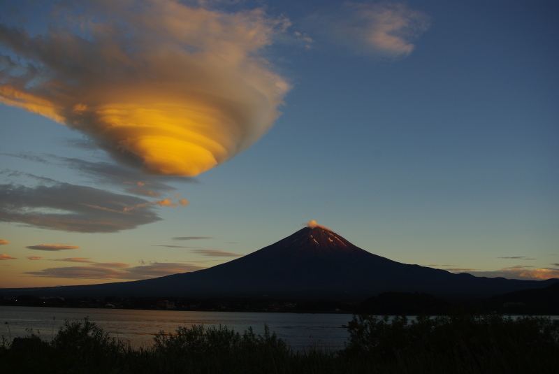
M154 263L133 268L108 268L103 266L68 266L64 268L47 268L41 271L30 271L25 274L46 278L66 279L110 279L110 280L142 280L158 278L164 275L187 273L203 269L194 264Z

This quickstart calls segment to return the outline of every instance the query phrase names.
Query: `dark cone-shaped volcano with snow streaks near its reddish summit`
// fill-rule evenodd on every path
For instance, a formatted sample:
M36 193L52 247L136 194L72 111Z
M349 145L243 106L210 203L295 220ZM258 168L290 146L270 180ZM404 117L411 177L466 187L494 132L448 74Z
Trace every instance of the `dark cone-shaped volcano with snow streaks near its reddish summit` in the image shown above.
M557 281L474 277L401 264L317 226L305 227L245 257L192 273L104 285L3 289L0 294L363 300L382 292L426 292L439 297L483 298Z

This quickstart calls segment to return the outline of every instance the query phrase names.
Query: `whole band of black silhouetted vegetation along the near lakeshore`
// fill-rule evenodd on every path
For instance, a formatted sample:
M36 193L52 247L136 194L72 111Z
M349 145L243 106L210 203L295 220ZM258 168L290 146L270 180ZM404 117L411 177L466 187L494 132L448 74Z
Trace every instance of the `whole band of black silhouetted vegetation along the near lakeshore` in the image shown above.
M94 323L68 322L48 343L3 340L1 373L556 373L559 321L546 317L356 315L346 348L304 352L266 329L179 327L133 348Z

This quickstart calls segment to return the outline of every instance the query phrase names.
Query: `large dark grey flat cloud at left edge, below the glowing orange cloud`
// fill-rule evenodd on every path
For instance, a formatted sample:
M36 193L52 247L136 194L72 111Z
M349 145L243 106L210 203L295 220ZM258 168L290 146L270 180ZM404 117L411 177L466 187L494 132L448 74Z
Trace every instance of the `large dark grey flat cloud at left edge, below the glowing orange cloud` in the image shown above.
M0 185L0 222L83 233L135 229L161 220L150 203L135 196L59 183L53 186ZM123 214L126 213L126 214Z

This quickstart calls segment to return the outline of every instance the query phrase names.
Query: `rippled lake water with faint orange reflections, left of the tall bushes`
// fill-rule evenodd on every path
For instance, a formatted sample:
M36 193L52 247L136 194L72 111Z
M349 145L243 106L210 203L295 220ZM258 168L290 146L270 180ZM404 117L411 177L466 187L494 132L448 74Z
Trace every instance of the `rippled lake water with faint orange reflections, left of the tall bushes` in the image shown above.
M65 319L74 322L85 317L110 336L129 340L136 347L152 345L155 333L174 333L178 326L222 324L240 333L252 326L255 333L262 334L264 324L268 324L270 332L296 350L312 345L337 350L349 337L342 325L347 325L352 315L0 306L0 336L24 337L29 335L26 329L33 329L44 340L51 340Z

